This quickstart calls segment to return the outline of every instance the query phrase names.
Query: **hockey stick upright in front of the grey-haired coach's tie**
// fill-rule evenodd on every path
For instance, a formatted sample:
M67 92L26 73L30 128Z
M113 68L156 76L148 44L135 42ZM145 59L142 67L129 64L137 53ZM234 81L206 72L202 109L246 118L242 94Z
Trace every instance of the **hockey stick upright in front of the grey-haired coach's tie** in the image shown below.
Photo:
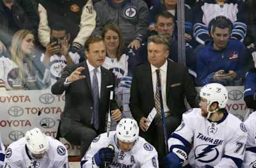
M164 117L164 105L163 105L163 97L162 97L162 87L161 87L161 80L159 75L157 76L157 89L159 91L159 97L160 97L160 104L161 104L161 111L162 111L162 121L163 121L163 129L164 129L164 144L165 144L165 152L166 155L169 153L169 147L168 147L168 139L167 139L167 133L166 133L166 120Z

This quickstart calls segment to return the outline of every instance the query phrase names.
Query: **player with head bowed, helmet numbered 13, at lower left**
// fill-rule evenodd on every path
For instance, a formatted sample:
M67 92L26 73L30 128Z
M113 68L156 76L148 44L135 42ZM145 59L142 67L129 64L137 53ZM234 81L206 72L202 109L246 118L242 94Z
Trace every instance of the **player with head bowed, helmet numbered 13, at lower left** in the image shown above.
M67 149L60 141L34 128L6 149L4 167L66 168L68 167Z

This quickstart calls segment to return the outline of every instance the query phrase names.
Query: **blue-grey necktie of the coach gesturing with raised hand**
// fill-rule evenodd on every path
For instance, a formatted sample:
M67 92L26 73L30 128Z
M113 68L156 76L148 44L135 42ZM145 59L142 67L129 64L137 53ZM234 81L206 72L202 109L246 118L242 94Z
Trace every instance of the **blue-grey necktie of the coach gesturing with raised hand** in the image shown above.
M92 115L93 117L93 126L96 130L99 130L99 83L97 78L97 72L98 69L93 70L93 79L92 79L92 94L93 94L93 107L94 107L94 113Z

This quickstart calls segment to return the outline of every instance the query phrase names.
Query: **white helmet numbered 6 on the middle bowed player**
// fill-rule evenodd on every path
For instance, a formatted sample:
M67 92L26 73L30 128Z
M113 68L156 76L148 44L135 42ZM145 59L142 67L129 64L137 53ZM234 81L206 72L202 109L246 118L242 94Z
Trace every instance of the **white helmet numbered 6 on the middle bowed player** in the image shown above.
M122 119L116 127L116 136L122 142L134 142L139 138L139 127L133 119Z

